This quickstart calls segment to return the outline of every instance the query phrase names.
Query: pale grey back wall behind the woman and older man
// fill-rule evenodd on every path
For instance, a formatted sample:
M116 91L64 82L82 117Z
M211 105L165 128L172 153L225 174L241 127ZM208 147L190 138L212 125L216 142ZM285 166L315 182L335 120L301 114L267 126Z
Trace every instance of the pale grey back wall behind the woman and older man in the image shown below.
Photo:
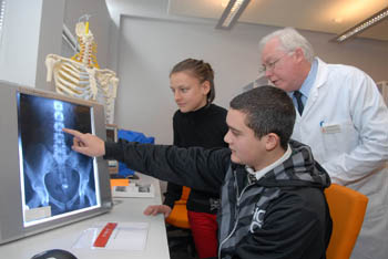
M122 17L120 27L115 123L172 143L172 115L176 110L170 91L172 66L186 58L204 59L215 71L215 103L231 99L257 76L257 43L275 27L237 24L232 31L215 30L215 21L169 21ZM351 64L376 81L387 77L388 42L356 39L329 43L331 34L302 32L327 62Z

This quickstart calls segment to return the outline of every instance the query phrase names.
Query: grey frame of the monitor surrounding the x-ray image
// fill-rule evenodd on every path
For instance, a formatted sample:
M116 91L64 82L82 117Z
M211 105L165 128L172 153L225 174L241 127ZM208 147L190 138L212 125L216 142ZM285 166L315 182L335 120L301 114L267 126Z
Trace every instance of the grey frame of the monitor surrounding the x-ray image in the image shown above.
M96 183L100 186L100 207L69 215L64 218L55 218L33 226L25 227L23 225L23 209L21 207L22 191L20 185L21 168L18 145L19 131L17 99L19 93L90 106L93 110L94 134L102 139L105 139L105 116L103 105L92 101L61 95L54 92L0 82L0 96L3 96L1 97L2 102L0 102L0 139L1 143L3 143L3 145L0 145L2 154L2 157L0 158L2 167L0 172L0 244L108 213L112 208L108 163L102 157L98 157L95 158L95 165L99 170Z

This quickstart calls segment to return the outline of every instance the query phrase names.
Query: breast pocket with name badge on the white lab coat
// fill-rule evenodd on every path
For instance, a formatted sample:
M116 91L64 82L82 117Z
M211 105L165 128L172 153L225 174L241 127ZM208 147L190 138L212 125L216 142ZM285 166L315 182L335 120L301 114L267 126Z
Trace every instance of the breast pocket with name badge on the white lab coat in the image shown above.
M358 133L351 121L324 123L321 134L326 157L350 153L358 143Z

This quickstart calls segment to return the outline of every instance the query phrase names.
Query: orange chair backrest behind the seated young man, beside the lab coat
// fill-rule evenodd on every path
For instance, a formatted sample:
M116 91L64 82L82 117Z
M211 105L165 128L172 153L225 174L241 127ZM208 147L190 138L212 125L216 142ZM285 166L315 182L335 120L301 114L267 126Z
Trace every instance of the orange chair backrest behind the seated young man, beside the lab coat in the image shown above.
M333 234L326 250L327 259L349 258L361 229L368 204L367 196L331 184L325 190L333 219Z

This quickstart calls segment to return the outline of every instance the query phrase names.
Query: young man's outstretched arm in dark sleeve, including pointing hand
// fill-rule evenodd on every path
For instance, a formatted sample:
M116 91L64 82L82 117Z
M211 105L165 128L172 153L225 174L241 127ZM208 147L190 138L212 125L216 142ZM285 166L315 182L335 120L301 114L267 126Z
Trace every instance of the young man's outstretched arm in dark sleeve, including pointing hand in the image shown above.
M133 170L155 178L217 193L229 167L228 148L178 148L120 139L105 143L92 134L63 128L73 136L72 149L86 156L118 159Z

